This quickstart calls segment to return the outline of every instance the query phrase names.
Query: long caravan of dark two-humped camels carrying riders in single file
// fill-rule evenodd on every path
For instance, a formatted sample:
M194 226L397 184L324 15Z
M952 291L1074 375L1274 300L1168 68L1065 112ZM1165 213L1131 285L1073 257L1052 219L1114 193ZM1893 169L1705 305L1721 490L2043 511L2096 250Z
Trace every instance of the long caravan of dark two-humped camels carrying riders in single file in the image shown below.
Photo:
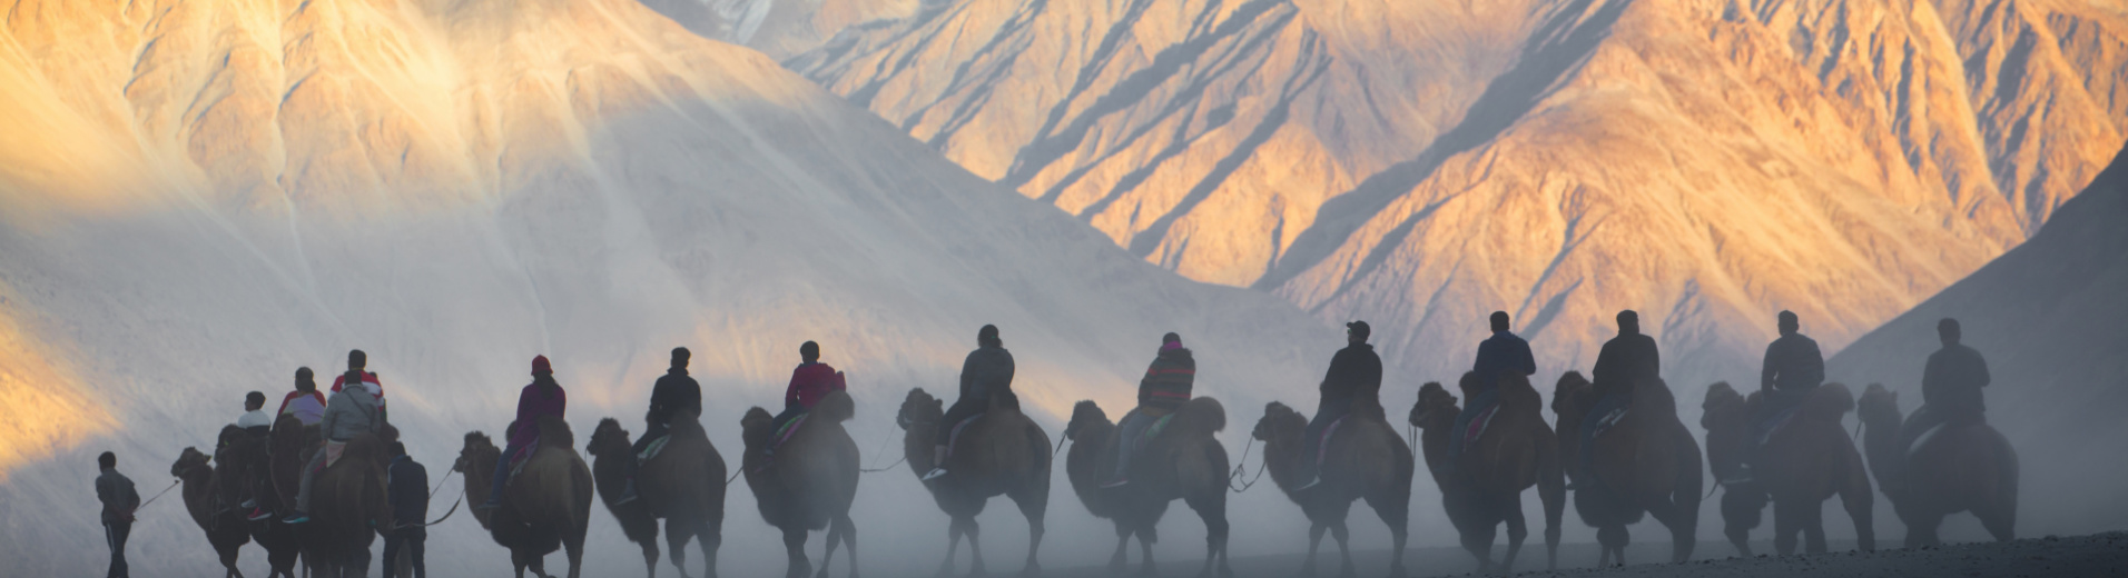
M1251 440L1264 442L1264 472L1309 523L1300 576L1317 572L1326 533L1339 546L1339 574L1353 574L1347 527L1353 502L1366 502L1390 527L1390 576L1404 576L1417 457L1424 457L1447 521L1483 574L1515 572L1530 533L1524 514L1528 489L1536 489L1543 504L1547 570L1558 570L1568 491L1581 521L1596 529L1598 565L1626 563L1626 527L1645 516L1670 529L1670 561L1688 561L1696 546L1702 476L1709 472L1724 480L1724 536L1741 557L1753 555L1749 533L1768 504L1775 506L1775 550L1796 552L1800 536L1805 552L1824 552L1822 504L1832 497L1841 497L1858 548L1875 550L1873 476L1907 525L1909 548L1939 544L1936 527L1956 512L1973 512L1996 540L2015 538L2017 455L1981 419L1979 387L1990 376L1979 353L1958 344L1951 319L1943 319L1945 348L1930 357L1924 374L1930 402L1902 416L1898 395L1883 385L1868 385L1856 397L1847 385L1822 382L1815 342L1796 332L1792 312L1783 312L1783 338L1768 346L1758 393L1741 395L1728 382L1707 387L1700 419L1705 455L1660 378L1656 342L1639 334L1630 310L1619 312L1619 338L1598 355L1596 382L1579 370L1560 374L1549 400L1556 423L1549 425L1543 419L1545 400L1528 378L1536 370L1526 342L1496 312L1494 338L1481 346L1479 370L1458 380L1464 397L1441 382L1419 385L1407 416L1411 427L1424 431L1419 455L1385 419L1381 363L1366 342L1368 327L1356 321L1347 329L1347 348L1330 363L1313 421L1292 406L1268 402L1249 431ZM977 516L1000 495L1028 521L1021 574L1036 576L1043 570L1038 559L1053 461L1064 442L1051 448L1051 438L1011 393L1011 357L996 329L985 325L979 342L983 348L962 370L962 402L953 410L924 389L904 395L894 414L902 429L902 459L949 518L941 576L955 572L962 540L968 542L968 572L987 572ZM858 529L851 521L858 480L864 472L883 470L860 468L858 444L845 429L858 410L845 374L817 363L815 342L800 353L807 363L794 370L785 416L770 416L760 406L741 416L745 448L738 476L753 491L762 521L783 533L787 578L826 578L843 546L849 548L849 576L858 576ZM1204 523L1200 576L1234 576L1228 561L1228 493L1245 491L1253 480L1234 487L1241 472L1228 470L1226 446L1215 436L1226 429L1226 408L1213 397L1192 397L1194 359L1179 336L1164 336L1138 382L1136 410L1117 423L1098 404L1077 402L1064 425L1062 436L1070 442L1064 478L1090 514L1115 525L1109 572L1128 570L1128 546L1136 538L1143 552L1138 572L1156 574L1158 523L1181 499ZM728 478L724 457L700 425L700 393L685 374L685 348L675 348L672 370L660 378L664 393L653 393L645 438L632 440L617 419L598 421L583 446L592 465L575 448L577 438L562 419L566 395L545 357L532 361L534 382L521 391L519 416L506 427L504 448L481 431L464 436L451 468L464 474L464 497L483 504L472 508L475 518L509 550L519 578L526 570L549 578L545 557L555 550L566 550L570 578L583 576L594 493L624 538L641 546L647 576L658 576L658 521L664 521L666 550L679 576L689 576L689 542L700 548L702 576L717 576L724 499L738 476ZM347 378L362 378L360 351L349 363ZM289 400L321 397L306 378L306 370L298 372L298 393ZM385 457L387 448L402 455L404 446L396 444L398 429L383 421L375 374L345 393L336 387L334 400L338 406L326 404L317 423L304 423L302 412L285 412L268 427L264 414L247 414L240 421L247 427L219 431L213 457L183 448L170 465L223 576L240 576L238 552L251 542L266 548L268 578L294 578L298 561L311 576L364 576L370 542L379 533L423 525L419 518L394 518L398 504L389 499L398 499L402 489L392 489L387 497ZM345 400L353 402L340 404ZM251 412L257 406L247 397ZM368 412L364 416L372 419L347 427L332 419L334 410ZM1866 431L1862 450L1843 431L1847 412L1856 412L1860 431ZM336 442L328 442L326 431L336 425ZM309 480L304 468L313 468ZM304 508L304 491L315 497L315 508ZM296 516L266 514L289 506ZM238 514L245 508L253 514ZM1507 550L1494 559L1502 525ZM821 529L828 544L815 567L804 544L811 531ZM394 570L409 565L406 559L387 563Z

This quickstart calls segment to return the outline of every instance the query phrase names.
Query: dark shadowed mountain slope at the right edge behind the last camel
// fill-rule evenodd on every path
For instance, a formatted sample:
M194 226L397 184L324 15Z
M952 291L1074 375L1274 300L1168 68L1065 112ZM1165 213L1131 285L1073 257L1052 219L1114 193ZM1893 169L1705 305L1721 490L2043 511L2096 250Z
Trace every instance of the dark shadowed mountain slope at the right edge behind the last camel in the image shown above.
M1834 355L1826 374L1883 382L1922 404L1936 321L1958 319L1988 359L1988 421L2017 448L2019 516L2064 531L2119 529L2128 516L2128 149L2062 204L2032 240Z

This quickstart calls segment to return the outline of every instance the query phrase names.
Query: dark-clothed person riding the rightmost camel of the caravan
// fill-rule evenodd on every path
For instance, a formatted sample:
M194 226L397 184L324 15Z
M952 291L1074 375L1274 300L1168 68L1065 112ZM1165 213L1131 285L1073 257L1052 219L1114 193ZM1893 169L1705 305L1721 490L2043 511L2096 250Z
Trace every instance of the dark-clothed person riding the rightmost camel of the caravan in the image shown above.
M1936 338L1943 340L1943 348L1930 353L1928 366L1922 368L1922 408L1915 408L1898 429L1898 455L1913 450L1928 429L1979 423L1988 410L1981 400L1981 387L1990 382L1988 359L1958 342L1962 338L1958 319L1936 321ZM1892 482L1879 484L1900 489L1900 482L1902 476L1894 476Z

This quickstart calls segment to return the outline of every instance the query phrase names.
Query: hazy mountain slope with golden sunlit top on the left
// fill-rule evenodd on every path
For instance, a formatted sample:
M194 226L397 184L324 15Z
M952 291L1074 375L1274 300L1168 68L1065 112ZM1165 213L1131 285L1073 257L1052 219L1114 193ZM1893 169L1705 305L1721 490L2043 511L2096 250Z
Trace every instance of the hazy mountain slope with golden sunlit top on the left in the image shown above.
M983 323L1002 327L1017 389L1051 427L1077 400L1128 404L1164 332L1196 348L1198 387L1230 400L1232 423L1311 395L1343 344L1275 295L1134 259L634 0L4 13L9 574L102 567L98 450L153 493L245 391L279 397L298 366L330 376L349 348L370 353L440 482L460 434L509 421L532 355L553 357L583 438L598 416L641 429L666 351L692 346L704 423L736 457L738 414L775 408L798 344L819 340L849 372L851 429L875 459L902 393L951 391ZM1236 450L1245 434L1230 427ZM921 514L919 544L943 536L907 472L866 491L866 508ZM1070 504L1060 491L1058 512ZM151 508L134 567L209 574L174 499ZM781 567L745 555L779 546L751 495L734 491L730 512L726 572ZM594 523L594 561L641 572L602 506ZM504 567L464 514L434 536L447 574Z

